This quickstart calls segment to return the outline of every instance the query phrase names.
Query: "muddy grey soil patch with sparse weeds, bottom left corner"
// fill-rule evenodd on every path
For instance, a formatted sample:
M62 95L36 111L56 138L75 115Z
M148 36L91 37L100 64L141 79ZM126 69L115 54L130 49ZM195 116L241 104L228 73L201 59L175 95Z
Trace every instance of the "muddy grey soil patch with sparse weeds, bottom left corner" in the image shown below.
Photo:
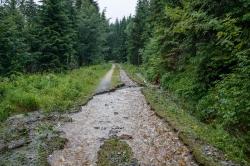
M70 122L67 115L32 112L10 117L0 126L0 166L46 166L47 156L62 149L65 138L54 126Z

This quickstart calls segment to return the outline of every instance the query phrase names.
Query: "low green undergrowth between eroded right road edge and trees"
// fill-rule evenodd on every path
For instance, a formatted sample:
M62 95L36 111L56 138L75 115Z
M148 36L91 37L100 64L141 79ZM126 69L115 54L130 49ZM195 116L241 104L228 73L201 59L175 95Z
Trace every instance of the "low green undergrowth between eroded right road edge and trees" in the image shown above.
M231 160L237 161L242 165L249 164L248 158L244 154L244 149L247 145L230 135L222 127L201 123L179 107L171 96L165 92L149 88L145 88L143 92L156 113L179 132L191 135L194 140L200 140L204 144L210 144L222 150L226 157Z

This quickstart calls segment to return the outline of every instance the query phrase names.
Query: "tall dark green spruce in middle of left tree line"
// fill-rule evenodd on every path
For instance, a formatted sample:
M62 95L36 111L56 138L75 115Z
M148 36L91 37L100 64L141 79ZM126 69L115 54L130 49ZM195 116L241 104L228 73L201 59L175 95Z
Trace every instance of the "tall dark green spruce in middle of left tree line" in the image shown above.
M73 29L65 0L44 0L40 13L40 70L67 69L75 50L72 47Z

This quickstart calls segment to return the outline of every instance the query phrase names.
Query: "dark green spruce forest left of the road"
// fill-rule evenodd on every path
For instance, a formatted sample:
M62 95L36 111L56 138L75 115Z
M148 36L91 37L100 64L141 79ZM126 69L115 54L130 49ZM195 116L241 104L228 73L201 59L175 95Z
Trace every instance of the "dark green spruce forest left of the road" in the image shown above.
M108 21L92 0L7 0L0 17L1 75L95 64L108 51Z

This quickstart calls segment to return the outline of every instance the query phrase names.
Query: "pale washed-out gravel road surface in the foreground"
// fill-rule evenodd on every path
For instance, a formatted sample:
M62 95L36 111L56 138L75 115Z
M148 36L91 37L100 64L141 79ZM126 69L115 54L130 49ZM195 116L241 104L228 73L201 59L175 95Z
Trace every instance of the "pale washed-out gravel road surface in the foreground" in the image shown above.
M197 165L177 134L147 105L141 88L123 70L120 75L125 88L94 96L61 128L69 141L49 158L50 164L96 165L104 140L126 135L131 136L125 141L140 165Z

